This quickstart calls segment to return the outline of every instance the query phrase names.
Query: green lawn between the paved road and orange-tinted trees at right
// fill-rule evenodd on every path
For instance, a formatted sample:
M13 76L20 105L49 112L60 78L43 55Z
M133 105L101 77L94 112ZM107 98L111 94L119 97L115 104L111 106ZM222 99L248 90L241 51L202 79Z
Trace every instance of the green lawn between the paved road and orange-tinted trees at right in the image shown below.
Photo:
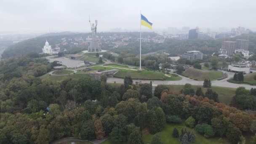
M184 85L166 85L168 86L171 91L174 91L175 93L179 93L181 89L184 88ZM197 88L202 88L200 85L192 85L192 88L196 91ZM224 104L230 104L232 97L235 96L236 88L225 88L225 87L219 87L219 86L213 86L211 87L213 91L216 91L219 95L219 101ZM205 93L207 91L207 88L202 88L203 92Z

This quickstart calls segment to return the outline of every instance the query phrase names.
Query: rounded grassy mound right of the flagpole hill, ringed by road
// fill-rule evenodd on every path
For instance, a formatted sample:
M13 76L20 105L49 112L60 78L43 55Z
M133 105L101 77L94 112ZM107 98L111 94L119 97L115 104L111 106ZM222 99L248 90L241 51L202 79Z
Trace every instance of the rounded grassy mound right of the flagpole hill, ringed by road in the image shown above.
M182 75L187 76L192 79L197 79L203 81L205 78L210 80L217 80L223 77L223 72L220 71L203 71L200 69L195 69L193 67L188 68Z

